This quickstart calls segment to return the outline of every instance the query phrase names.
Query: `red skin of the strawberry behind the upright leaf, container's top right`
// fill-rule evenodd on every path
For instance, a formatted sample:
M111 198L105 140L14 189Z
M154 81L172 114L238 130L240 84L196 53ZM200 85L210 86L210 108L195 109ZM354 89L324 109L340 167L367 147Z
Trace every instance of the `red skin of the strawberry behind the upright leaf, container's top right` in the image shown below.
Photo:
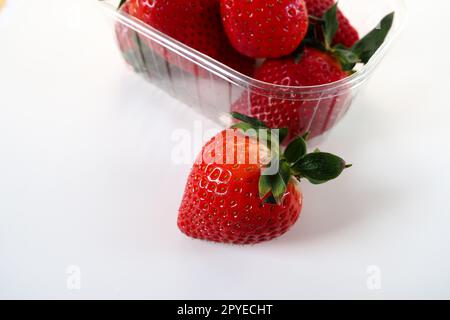
M335 4L334 0L305 0L308 13L312 16L321 18L324 13ZM343 44L351 48L359 40L358 31L350 24L350 21L344 16L338 8L337 12L339 29L333 39L333 44Z

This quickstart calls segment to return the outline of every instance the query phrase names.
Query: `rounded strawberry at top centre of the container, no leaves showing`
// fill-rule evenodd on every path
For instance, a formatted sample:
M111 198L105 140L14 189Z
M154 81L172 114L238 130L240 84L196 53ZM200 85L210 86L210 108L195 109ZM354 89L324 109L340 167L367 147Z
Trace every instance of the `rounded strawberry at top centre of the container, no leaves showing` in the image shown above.
M304 0L221 0L220 5L231 44L248 57L288 55L308 31Z

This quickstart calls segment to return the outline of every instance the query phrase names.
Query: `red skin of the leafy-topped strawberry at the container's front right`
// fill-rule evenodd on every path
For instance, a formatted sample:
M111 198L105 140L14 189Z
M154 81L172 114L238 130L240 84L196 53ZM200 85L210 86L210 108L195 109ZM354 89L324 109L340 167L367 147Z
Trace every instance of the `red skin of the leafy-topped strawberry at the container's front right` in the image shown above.
M295 57L266 60L255 72L255 78L264 82L286 86L314 86L341 80L348 76L340 64L327 53L305 48L300 61ZM267 97L256 91L248 92L232 106L237 111L258 118L271 128L288 128L287 139L310 132L315 138L330 129L345 113L350 103L348 92L335 93L339 96L321 98L320 93L307 99L292 95L295 100Z

